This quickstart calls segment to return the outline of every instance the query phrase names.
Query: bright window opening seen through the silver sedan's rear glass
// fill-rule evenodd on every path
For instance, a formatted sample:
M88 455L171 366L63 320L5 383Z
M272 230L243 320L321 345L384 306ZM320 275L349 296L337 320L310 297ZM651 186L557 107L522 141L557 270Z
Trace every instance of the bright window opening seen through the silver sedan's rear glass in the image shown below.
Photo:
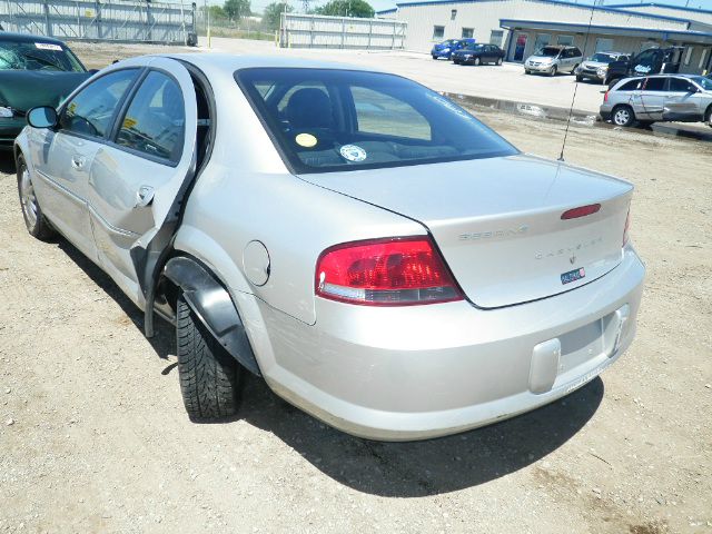
M350 89L358 131L431 140L431 125L413 106L366 87Z

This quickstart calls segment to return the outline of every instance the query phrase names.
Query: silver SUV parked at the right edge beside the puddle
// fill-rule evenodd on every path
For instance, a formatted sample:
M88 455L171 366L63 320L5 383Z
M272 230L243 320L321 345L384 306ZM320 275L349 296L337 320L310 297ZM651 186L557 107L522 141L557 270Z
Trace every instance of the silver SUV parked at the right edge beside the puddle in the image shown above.
M712 126L712 80L694 75L625 78L605 93L600 113L616 126L636 121L704 121Z

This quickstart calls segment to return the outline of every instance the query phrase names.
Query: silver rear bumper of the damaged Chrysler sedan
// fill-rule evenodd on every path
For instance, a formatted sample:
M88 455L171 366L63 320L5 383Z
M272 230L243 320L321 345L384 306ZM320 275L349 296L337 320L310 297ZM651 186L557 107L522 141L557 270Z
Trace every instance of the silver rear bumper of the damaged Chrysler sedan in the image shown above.
M256 353L278 395L344 432L453 434L551 403L617 359L635 334L644 271L629 246L603 278L534 303L482 310L318 299L314 326L263 303L269 347Z

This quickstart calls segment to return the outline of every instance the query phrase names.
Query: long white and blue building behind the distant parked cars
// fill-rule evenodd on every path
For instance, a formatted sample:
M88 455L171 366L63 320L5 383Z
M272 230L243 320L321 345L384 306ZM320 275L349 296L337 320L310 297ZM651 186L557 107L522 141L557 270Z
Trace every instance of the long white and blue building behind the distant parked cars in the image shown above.
M435 42L472 37L501 46L507 61L521 62L545 44L573 44L584 56L682 46L681 72L712 70L712 11L708 10L660 2L591 7L563 0L429 0L396 6L377 16L408 24L408 50L427 52Z

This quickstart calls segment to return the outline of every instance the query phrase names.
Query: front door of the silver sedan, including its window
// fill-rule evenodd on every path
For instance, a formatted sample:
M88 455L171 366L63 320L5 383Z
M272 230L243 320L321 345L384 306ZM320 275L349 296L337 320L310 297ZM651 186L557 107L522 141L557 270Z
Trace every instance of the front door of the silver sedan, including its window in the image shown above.
M89 168L108 136L118 102L137 69L102 76L71 96L59 111L59 127L31 130L38 200L57 228L97 260L87 209Z

